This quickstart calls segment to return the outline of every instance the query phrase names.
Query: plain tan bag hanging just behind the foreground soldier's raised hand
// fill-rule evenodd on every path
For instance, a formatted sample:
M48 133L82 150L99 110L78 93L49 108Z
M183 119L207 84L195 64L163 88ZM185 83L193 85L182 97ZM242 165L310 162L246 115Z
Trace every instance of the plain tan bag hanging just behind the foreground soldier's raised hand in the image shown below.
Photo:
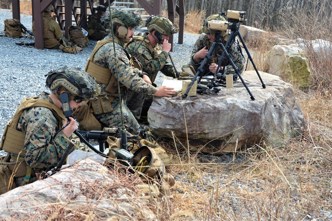
M82 101L82 105L78 106L73 113L74 117L77 117L76 120L79 122L79 129L88 131L101 130L102 125L93 115L90 105L90 103Z

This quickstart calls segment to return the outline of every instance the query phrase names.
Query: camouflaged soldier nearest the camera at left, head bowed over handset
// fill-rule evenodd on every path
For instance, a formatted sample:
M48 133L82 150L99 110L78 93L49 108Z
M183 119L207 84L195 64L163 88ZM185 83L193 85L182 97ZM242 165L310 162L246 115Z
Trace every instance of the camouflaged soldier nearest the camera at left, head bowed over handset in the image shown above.
M67 84L67 82L70 81L70 76L73 77L75 82ZM66 85L63 83L63 79L65 81L68 80L65 82ZM73 92L71 90L73 88L72 86L78 88L78 90ZM16 118L19 117L16 129L25 134L24 149L22 147L24 152L20 153L19 158L23 158L27 166L34 169L36 173L41 171L47 172L49 169L54 168L69 145L70 139L76 140L77 146L74 145L75 149L90 151L90 149L84 143L80 143L79 138L73 134L72 131L77 127L76 121L73 118L69 117L71 122L67 126L68 128L65 127L56 134L59 128L68 122L63 115L61 101L57 97L59 97L59 94L67 92L69 94L70 106L72 108L78 107L82 100L90 99L95 93L95 80L82 70L64 67L60 70L54 69L48 73L46 87L51 89L51 94L43 92L37 98L28 99L30 99L30 101L34 100L34 103L36 103L35 106L38 104L41 105L41 103L38 103L39 101L45 102L47 103L47 105L45 105L47 107L29 106L31 108L23 108L22 112L22 108L20 107L25 107L28 104L27 101L24 100L23 106L21 105L18 108L13 119L10 121L16 121ZM21 116L18 115L20 112L22 113ZM12 126L15 127L15 125ZM2 148L7 151L4 147L4 140L6 139L7 137L3 138L1 145ZM16 162L18 154L12 153L10 150L8 150L8 152L11 157L10 162ZM31 176L28 182L25 181L25 179L27 179L25 176L14 178L16 185L22 186L37 180L34 174Z

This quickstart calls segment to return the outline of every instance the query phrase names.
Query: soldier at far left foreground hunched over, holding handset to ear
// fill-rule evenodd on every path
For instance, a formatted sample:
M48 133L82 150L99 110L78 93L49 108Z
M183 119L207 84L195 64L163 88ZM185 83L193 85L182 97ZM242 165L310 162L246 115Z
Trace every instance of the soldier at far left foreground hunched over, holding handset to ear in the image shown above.
M75 149L89 150L73 134L77 124L72 117L62 128L68 119L64 116L64 101L60 95L67 93L69 99L64 104L69 103L69 108L75 110L83 100L96 96L96 81L85 71L66 66L54 69L46 76L46 87L51 93L43 92L38 97L23 99L2 137L0 149L8 152L3 164L12 162L12 168L8 167L11 173L15 173L13 188L32 183L37 180L36 174L54 168L70 139L76 140L78 146L74 145Z

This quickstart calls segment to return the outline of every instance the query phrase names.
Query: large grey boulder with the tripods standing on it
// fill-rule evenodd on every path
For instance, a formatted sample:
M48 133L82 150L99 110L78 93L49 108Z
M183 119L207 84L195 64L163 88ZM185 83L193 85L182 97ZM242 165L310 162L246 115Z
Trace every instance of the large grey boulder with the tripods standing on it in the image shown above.
M148 111L150 129L156 135L187 146L191 151L222 154L262 140L280 146L306 127L292 85L280 77L245 71L243 78L255 101L244 87L221 88L218 95L196 95L182 99L154 98Z

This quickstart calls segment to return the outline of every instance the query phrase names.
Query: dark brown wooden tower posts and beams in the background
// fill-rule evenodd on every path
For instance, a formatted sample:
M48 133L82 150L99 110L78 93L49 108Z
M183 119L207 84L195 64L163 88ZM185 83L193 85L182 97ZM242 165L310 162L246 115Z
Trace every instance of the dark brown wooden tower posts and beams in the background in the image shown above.
M160 15L163 0L153 0L151 5L148 0L136 0L149 15ZM179 40L183 43L183 29L185 16L185 0L166 0L168 19L174 23L175 13L179 14ZM107 0L99 0L99 5L108 7ZM112 4L115 0L110 0ZM178 5L176 4L178 2ZM79 3L79 4L78 4ZM68 28L73 22L78 24L80 12L84 12L81 19L82 28L86 28L87 12L90 9L94 13L93 0L32 0L32 19L35 21L35 46L38 49L44 48L42 13L49 6L53 5L54 13L62 30L65 30L65 37L68 38ZM79 6L76 6L79 5ZM20 0L12 0L13 18L20 20ZM78 10L80 9L80 10ZM170 36L170 43L173 45L173 37Z

